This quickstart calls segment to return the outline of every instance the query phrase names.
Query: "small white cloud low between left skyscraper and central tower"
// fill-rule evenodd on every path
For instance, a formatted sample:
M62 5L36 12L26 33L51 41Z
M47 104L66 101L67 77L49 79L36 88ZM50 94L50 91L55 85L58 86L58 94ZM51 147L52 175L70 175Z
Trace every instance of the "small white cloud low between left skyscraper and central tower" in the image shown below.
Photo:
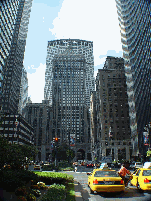
M44 100L45 69L46 64L40 63L35 73L27 73L28 96L31 97L33 103L41 103Z

